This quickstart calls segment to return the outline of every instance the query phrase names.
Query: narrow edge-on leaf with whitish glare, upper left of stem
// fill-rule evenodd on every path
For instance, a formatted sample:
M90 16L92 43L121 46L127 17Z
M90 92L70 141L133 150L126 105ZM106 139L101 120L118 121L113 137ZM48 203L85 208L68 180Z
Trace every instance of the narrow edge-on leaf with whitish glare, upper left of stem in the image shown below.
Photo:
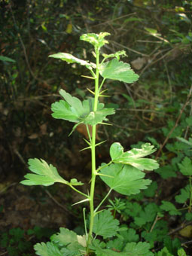
M70 53L55 53L49 56L50 58L55 58L55 59L62 59L63 61L69 62L69 63L78 63L81 64L82 66L93 66L93 63L89 63L83 59L78 59L75 56L73 56Z

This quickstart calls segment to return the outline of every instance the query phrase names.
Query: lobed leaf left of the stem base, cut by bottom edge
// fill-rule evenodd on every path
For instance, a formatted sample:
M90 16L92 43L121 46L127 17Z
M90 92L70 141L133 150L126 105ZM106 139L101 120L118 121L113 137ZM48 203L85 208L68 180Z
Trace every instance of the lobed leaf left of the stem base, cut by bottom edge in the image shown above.
M59 251L56 245L52 242L44 242L37 243L35 246L35 253L40 256L62 256L62 253Z

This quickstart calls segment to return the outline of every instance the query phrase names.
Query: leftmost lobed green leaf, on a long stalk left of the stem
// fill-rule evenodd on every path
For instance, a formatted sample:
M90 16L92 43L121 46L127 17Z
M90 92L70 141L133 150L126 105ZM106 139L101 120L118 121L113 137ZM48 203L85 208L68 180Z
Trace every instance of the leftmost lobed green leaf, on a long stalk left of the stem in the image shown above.
M52 164L48 165L44 160L39 160L37 158L29 159L29 170L36 173L28 173L24 177L26 180L21 181L24 185L44 185L50 186L55 182L61 182L63 184L69 184L68 181L63 179L56 170L56 167Z

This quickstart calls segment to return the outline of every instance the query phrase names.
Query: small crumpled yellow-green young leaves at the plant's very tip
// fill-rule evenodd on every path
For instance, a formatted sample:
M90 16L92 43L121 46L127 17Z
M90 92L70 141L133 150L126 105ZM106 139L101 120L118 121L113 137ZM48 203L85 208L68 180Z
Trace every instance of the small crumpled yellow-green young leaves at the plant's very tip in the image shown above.
M100 49L104 44L108 44L108 41L105 40L105 36L110 35L108 32L100 32L99 34L87 33L81 35L80 39L87 41L90 44L93 44L94 47Z

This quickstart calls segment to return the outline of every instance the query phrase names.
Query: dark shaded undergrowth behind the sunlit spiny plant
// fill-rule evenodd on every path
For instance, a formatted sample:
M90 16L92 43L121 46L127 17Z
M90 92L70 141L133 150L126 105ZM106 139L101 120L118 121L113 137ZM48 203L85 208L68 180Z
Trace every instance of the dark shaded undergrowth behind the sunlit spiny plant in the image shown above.
M82 181L89 181L89 152L79 152L84 148L84 127L73 133L69 140L72 126L50 116L50 104L59 97L59 89L84 99L87 80L80 74L87 73L82 66L71 69L65 62L48 59L48 56L67 52L80 59L90 59L91 49L84 41L79 41L80 35L110 32L110 44L102 49L103 52L126 50L128 56L124 60L131 63L140 78L135 84L109 81L106 85L105 89L113 96L105 102L116 108L117 114L110 117L112 127L98 128L98 140L108 139L106 147L97 151L98 164L108 158L107 149L112 142L119 141L126 149L139 145L138 142L155 145L157 155L154 157L161 167L151 176L155 183L148 191L152 192L132 198L131 202L130 198L129 201L123 199L126 210L121 212L120 218L130 224L141 239L145 237L151 246L155 244L157 250L166 245L175 254L177 243L180 243L190 254L192 195L191 187L184 186L191 185L191 177L182 170L186 164L186 169L191 169L191 1L5 0L0 2L0 7L0 225L5 241L0 245L2 252L8 254L8 248L17 248L17 242L25 239L27 242L41 237L45 239L44 231L41 231L41 237L37 236L35 225L56 229L62 224L81 230L72 221L81 212L78 207L71 207L72 202L77 201L75 195L69 194L68 190L60 195L56 186L49 190L31 188L26 194L29 187L23 188L18 182L26 173L29 157L43 157L47 162L58 164L60 173L66 178L73 178L75 173ZM178 137L186 139L188 144L179 141ZM188 197L175 198L187 189L190 190ZM105 187L98 187L98 198L104 191ZM172 206L170 209L162 203L165 215L160 216L156 206L162 200L184 211L172 215ZM59 205L63 201L68 204L65 209ZM43 219L42 212L37 218L37 212L42 209L46 212L51 203L58 206L60 212L51 213L47 219ZM148 203L154 205L146 209ZM34 208L34 215L27 218L29 209ZM138 212L131 212L133 208ZM146 215L153 209L151 221L141 221L144 219L139 215L141 209ZM10 210L15 212L17 221L11 221L13 214L8 214ZM159 218L164 222L157 221ZM160 234L158 228L151 235L155 230L151 230L154 222L157 222L155 227L159 225L163 230L160 237L157 237L157 233ZM17 236L20 241L14 239L15 233L20 234ZM166 236L175 242L166 244L163 240ZM22 252L17 248L9 254L29 255L29 243L25 248L20 246Z

